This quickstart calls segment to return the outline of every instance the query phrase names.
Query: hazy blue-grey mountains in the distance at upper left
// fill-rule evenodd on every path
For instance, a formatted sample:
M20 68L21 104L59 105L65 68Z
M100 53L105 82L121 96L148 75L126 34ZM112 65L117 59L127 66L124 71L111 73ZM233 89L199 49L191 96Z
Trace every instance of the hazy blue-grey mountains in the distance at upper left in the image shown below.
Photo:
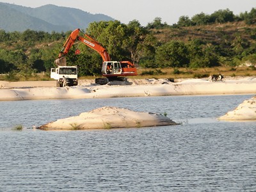
M45 32L65 32L76 28L85 29L90 22L100 20L108 21L113 18L52 4L30 8L0 2L0 29L4 31L31 29Z

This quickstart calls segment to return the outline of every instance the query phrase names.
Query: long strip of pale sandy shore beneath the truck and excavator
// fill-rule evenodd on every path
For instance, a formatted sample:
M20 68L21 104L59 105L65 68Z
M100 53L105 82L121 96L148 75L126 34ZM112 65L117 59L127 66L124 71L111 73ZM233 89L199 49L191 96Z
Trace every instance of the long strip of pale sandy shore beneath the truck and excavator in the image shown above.
M0 81L0 100L83 99L107 97L149 97L164 95L255 94L256 77L227 78L223 82L208 79L128 79L127 83L97 85L80 80L79 86L56 88L55 81Z

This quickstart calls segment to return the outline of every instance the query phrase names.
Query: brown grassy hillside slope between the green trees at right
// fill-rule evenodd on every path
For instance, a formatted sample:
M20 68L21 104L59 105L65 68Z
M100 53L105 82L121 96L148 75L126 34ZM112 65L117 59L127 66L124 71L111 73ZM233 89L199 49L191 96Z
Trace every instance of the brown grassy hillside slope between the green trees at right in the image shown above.
M223 24L210 24L202 26L190 26L181 28L153 29L154 36L159 42L169 42L170 40L180 40L188 42L190 40L200 39L205 42L214 42L221 44L234 40L236 36L255 43L256 25L245 24L244 21L227 22Z

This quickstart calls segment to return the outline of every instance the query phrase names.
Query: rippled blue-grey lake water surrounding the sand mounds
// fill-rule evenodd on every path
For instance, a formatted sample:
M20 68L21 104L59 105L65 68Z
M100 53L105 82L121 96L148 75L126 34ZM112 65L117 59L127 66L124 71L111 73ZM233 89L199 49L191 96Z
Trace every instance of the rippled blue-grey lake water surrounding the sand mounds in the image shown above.
M256 122L216 120L252 97L0 102L0 191L256 191ZM167 113L182 124L30 129L102 106Z

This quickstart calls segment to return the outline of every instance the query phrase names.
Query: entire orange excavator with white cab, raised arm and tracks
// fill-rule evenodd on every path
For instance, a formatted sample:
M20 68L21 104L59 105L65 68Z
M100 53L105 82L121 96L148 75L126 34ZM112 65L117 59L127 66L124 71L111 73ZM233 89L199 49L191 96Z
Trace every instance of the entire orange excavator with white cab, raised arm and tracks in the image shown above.
M83 33L83 36L79 34ZM95 83L106 84L108 81L122 79L124 81L125 76L136 76L137 70L133 63L130 61L111 61L110 56L106 49L102 47L96 40L92 37L88 36L86 33L81 31L80 29L76 29L72 31L70 36L68 36L67 41L63 45L63 49L61 50L58 58L54 61L54 63L58 66L66 66L65 56L68 54L68 51L74 45L75 42L80 41L93 50L97 51L102 57L102 76L106 78L97 78L95 79Z

